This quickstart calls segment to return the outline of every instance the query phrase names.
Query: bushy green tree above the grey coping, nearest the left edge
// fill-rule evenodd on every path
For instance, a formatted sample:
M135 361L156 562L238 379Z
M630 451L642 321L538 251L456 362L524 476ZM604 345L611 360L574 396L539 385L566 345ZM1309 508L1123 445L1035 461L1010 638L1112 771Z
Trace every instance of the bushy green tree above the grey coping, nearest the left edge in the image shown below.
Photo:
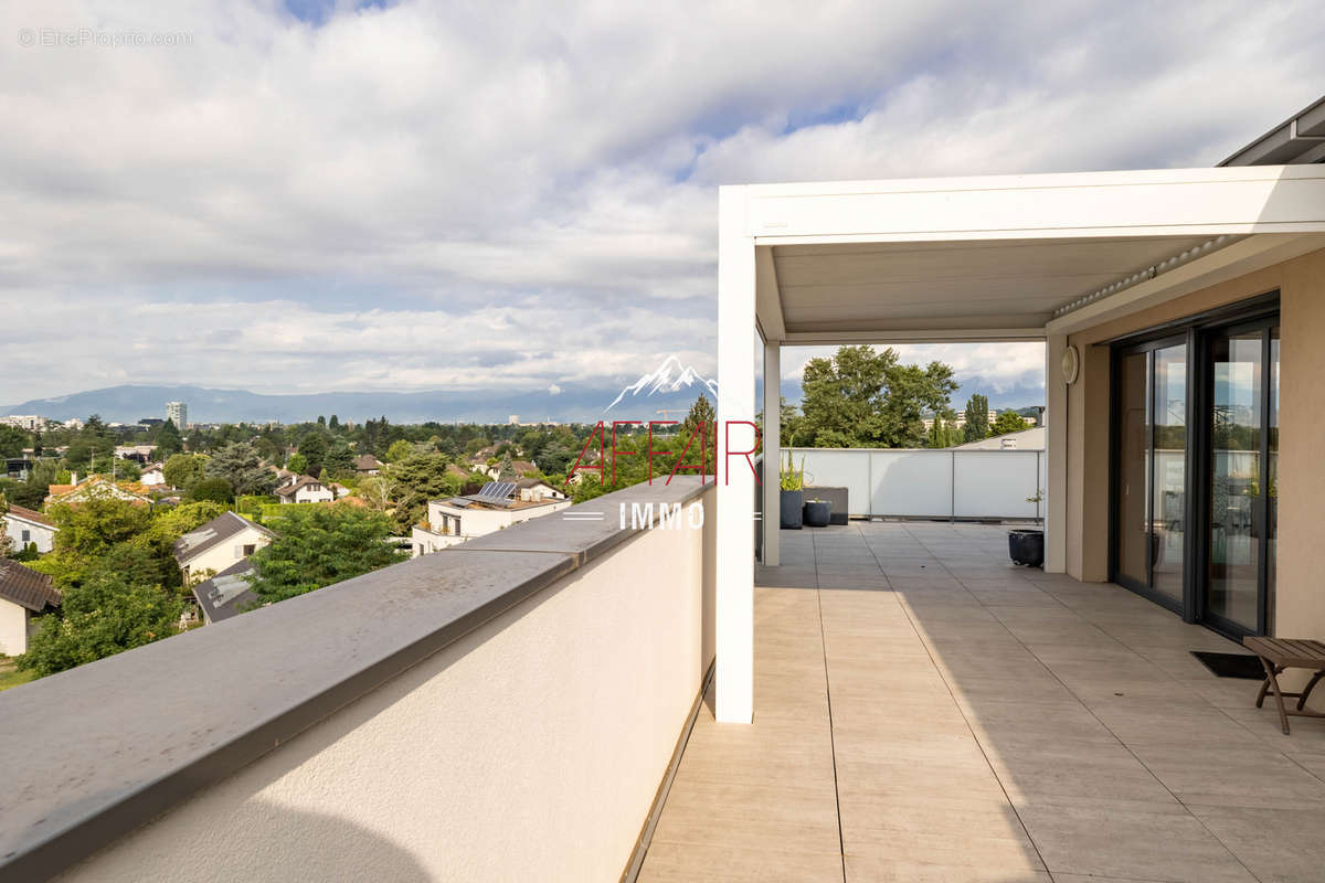
M146 553L139 553L144 561ZM17 665L49 675L132 647L160 641L179 630L182 600L159 585L131 581L123 561L107 561L64 589L60 613L37 621L37 633Z

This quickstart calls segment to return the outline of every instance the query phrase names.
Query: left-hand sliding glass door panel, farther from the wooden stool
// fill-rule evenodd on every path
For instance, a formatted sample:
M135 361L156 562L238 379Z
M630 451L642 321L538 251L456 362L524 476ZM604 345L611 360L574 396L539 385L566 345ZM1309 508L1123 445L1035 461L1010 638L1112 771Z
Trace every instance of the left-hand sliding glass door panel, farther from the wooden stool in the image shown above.
M1118 352L1114 580L1182 612L1187 500L1187 343Z

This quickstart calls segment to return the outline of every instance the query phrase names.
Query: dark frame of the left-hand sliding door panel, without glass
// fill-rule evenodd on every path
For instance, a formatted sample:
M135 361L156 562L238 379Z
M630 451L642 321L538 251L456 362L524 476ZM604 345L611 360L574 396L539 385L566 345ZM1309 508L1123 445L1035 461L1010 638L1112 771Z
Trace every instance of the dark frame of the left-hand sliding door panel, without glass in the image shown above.
M1155 486L1155 455L1154 455L1154 441L1155 441L1155 421L1154 421L1154 365L1155 365L1155 351L1167 349L1170 347L1179 347L1186 344L1187 347L1187 371L1186 371L1186 384L1187 384L1187 417L1186 417L1186 440L1187 440L1187 463L1183 469L1183 551L1182 551L1182 598L1170 597L1162 592L1157 592L1154 586L1154 486ZM1142 355L1146 356L1146 384L1145 384L1145 397L1146 397L1146 428L1149 429L1150 437L1146 440L1146 449L1149 451L1149 462L1146 463L1146 580L1145 584L1137 582L1136 580L1124 576L1120 569L1120 552L1121 552L1121 520L1122 514L1118 507L1118 491L1120 482L1122 481L1122 360L1124 356ZM1191 609L1190 604L1190 585L1191 582L1191 436L1192 436L1192 421L1191 421L1191 389L1192 389L1192 342L1191 331L1182 331L1174 334L1171 330L1163 336L1147 338L1140 343L1128 343L1122 346L1113 347L1113 353L1109 360L1109 581L1117 582L1125 589L1136 592L1147 601L1154 601L1159 606L1167 608L1177 613L1178 616L1187 618L1187 610Z

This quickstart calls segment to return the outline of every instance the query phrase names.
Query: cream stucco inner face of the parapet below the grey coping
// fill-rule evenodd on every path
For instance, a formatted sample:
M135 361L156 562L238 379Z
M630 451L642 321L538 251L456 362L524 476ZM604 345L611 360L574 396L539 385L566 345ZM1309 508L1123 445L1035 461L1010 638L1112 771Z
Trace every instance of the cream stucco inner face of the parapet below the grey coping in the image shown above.
M61 879L617 879L713 658L705 499Z

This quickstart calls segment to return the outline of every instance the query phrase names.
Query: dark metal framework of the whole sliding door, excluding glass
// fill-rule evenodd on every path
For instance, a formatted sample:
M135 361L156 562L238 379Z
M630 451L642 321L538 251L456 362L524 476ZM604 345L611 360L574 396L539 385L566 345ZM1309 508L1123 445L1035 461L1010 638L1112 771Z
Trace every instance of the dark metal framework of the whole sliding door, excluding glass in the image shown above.
M1210 496L1212 463L1210 459L1211 432L1207 425L1211 420L1214 406L1214 365L1210 361L1211 340L1215 335L1227 334L1235 328L1264 327L1267 330L1263 344L1263 357L1267 369L1261 373L1263 396L1268 396L1268 377L1273 373L1269 367L1269 328L1280 324L1279 319L1279 290L1251 297L1246 301L1215 307L1204 312L1190 315L1174 322L1167 322L1153 328L1145 328L1134 334L1124 335L1113 340L1102 340L1097 346L1110 348L1109 353L1109 581L1136 592L1141 597L1154 601L1174 613L1179 614L1185 622L1204 625L1215 631L1234 638L1252 634L1248 629L1223 617L1208 614L1206 610L1207 564L1210 561ZM1178 343L1187 344L1187 462L1185 469L1185 502L1183 502L1183 567L1182 567L1182 602L1177 604L1171 597L1150 589L1154 585L1153 555L1146 560L1146 582L1138 585L1134 580L1120 579L1118 573L1118 482L1121 479L1121 406L1122 406L1122 356L1136 352L1153 352ZM1146 359L1147 377L1146 388L1151 389L1154 381L1154 356ZM1207 379L1208 367L1208 379ZM1146 396L1146 414L1151 426L1151 457L1150 457L1150 486L1154 487L1154 396ZM1268 397L1263 401L1269 401ZM1269 432L1263 433L1261 462L1268 470ZM1267 485L1268 487L1268 485ZM1268 500L1268 498L1265 498ZM1153 500L1147 500L1146 512L1153 512ZM1268 508L1268 507L1267 507ZM1153 523L1153 522L1151 522ZM1257 588L1257 633L1265 634L1272 614L1268 610L1268 556L1261 555L1259 588Z

